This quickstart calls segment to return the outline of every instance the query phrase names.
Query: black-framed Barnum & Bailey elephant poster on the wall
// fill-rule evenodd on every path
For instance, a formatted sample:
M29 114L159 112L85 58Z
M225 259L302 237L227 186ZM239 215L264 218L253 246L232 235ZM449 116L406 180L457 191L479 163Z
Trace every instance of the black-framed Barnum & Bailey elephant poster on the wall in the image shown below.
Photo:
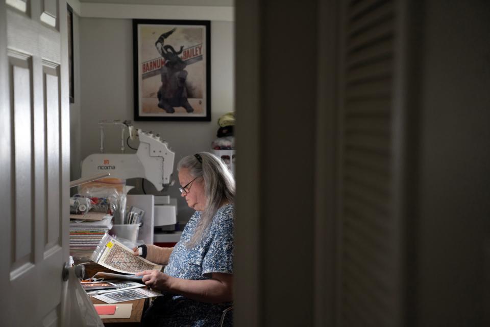
M134 120L211 121L209 20L133 19Z

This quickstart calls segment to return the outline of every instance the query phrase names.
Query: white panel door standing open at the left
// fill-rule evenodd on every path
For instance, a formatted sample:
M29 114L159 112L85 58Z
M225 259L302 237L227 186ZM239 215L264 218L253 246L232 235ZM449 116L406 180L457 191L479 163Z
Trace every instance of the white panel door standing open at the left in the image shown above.
M68 260L64 0L0 2L0 317L60 326Z

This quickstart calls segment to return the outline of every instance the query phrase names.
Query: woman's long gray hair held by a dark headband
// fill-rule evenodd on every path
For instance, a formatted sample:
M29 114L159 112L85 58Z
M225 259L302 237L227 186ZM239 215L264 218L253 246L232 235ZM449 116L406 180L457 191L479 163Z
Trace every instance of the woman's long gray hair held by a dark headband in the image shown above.
M206 208L201 214L192 238L186 244L187 248L192 248L201 242L214 215L224 201L235 202L235 179L225 163L209 152L199 152L198 155L201 160L195 155L188 155L177 164L177 171L186 168L193 178L203 176L204 179Z

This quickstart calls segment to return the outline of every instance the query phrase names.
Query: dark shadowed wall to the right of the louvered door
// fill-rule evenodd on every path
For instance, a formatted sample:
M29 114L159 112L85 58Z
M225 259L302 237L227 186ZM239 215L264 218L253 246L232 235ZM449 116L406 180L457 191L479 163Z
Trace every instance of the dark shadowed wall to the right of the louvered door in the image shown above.
M413 325L483 326L490 322L490 3L427 2L424 10Z

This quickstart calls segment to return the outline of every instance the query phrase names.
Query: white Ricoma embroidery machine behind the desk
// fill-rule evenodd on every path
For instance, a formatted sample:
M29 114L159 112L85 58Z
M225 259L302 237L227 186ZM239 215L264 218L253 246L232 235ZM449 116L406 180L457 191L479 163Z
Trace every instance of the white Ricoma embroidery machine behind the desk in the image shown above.
M121 153L104 153L104 129L106 126L121 128ZM136 153L124 153L125 130L128 129L128 139L139 138ZM120 179L144 178L150 181L157 191L172 185L175 153L168 144L151 131L136 130L130 121L100 121L100 152L87 156L82 161L81 177L100 173L110 173L110 177ZM129 145L128 145L129 146ZM147 244L153 244L154 226L175 225L177 222L177 201L169 196L128 195L127 205L134 205L145 211L140 239Z

